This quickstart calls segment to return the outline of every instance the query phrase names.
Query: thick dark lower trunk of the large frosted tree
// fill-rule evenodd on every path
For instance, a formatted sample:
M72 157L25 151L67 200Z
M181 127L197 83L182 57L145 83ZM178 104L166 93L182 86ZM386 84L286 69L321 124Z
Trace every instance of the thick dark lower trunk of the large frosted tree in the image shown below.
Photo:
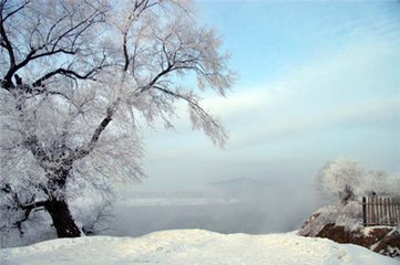
M75 224L75 221L73 220L70 209L64 200L54 199L49 201L45 209L53 220L58 237L81 236L81 231Z

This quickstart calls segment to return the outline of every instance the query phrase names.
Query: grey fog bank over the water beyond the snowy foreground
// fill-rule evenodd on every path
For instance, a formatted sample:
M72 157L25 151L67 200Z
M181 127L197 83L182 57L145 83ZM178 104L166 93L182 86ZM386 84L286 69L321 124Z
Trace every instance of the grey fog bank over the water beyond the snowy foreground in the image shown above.
M265 234L298 230L322 202L312 187L269 187L252 179L209 183L198 191L136 192L119 202L103 234L204 229Z

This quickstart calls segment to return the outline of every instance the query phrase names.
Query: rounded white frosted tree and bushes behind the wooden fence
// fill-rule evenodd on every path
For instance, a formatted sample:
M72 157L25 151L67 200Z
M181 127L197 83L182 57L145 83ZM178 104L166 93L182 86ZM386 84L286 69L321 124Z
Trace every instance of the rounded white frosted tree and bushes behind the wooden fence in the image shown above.
M318 189L325 194L338 197L343 204L360 195L398 195L398 183L397 177L388 177L382 170L368 170L359 161L349 158L327 162L317 176Z

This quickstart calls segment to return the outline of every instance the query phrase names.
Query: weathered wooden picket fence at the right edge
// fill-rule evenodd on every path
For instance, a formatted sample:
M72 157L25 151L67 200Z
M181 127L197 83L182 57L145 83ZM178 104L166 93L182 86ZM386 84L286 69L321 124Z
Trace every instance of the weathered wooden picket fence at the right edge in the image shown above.
M400 225L400 200L386 197L362 198L363 225Z

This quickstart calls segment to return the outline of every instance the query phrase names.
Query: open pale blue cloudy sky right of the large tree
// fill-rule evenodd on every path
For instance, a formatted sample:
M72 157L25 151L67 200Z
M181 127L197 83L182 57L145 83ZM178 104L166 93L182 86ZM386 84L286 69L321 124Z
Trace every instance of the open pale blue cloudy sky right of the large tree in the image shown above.
M197 189L254 178L314 183L328 160L350 157L400 172L399 1L197 1L238 81L204 105L229 132L220 150L193 131L145 137L146 189Z

